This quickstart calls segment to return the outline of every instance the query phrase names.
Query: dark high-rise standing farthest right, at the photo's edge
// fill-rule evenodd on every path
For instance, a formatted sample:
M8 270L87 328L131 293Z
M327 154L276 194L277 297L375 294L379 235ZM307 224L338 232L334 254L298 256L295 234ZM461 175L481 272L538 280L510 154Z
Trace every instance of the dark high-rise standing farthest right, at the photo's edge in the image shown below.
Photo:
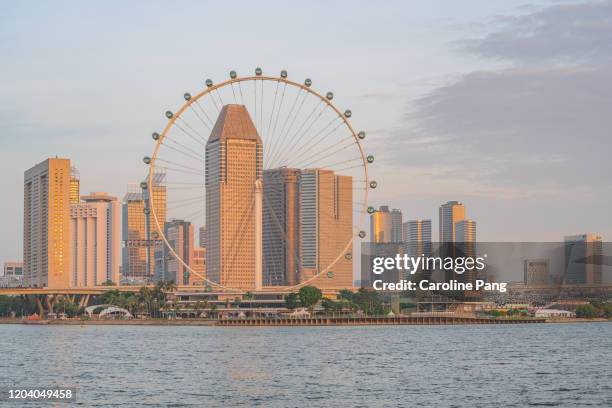
M586 233L565 237L566 284L602 283L603 242L600 235Z

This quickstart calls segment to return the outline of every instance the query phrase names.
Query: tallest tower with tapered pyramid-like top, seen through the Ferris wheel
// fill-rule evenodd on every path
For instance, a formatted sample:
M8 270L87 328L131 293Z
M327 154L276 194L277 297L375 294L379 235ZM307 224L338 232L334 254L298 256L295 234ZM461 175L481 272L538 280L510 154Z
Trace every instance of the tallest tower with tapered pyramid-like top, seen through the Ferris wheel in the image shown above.
M206 273L232 288L254 289L262 268L262 149L246 107L223 106L206 143Z

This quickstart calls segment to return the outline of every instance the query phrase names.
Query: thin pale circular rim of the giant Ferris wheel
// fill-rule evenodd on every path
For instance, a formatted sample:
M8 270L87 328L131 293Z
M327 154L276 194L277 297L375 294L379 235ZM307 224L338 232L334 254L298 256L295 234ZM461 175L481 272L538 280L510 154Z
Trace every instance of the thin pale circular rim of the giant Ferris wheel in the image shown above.
M355 129L352 127L352 125L350 124L350 122L348 121L348 117L342 113L338 108L336 108L336 106L331 102L330 98L327 98L324 95L321 95L320 93L318 93L317 91L313 90L309 85L306 84L301 84L295 81L292 81L290 79L288 79L287 77L275 77L275 76L268 76L268 75L255 75L255 76L245 76L245 77L239 77L236 76L235 78L230 78L229 80L220 82L218 84L212 84L212 85L208 85L206 84L206 88L204 90L202 90L201 92L197 93L196 95L193 95L189 97L189 99L186 99L185 102L181 105L181 107L176 111L176 113L172 113L172 116L169 117L168 119L168 123L166 124L166 126L164 127L163 131L161 133L159 133L159 137L158 139L155 141L155 150L153 151L152 156L150 157L150 162L148 163L149 166L149 172L148 172L148 177L147 177L147 188L148 188L148 194L151 194L152 187L153 187L153 175L155 173L155 162L157 160L157 156L159 154L159 149L161 148L161 146L163 145L163 141L166 138L166 135L168 134L168 132L174 127L174 124L176 122L176 120L178 118L181 117L181 115L191 107L191 105L195 102L197 102L198 100L200 100L201 98L203 98L204 96L210 94L213 91L216 91L218 89L222 89L225 88L227 86L231 86L234 83L240 83L240 82L250 82L250 81L270 81L270 82L277 82L277 83L284 83L286 85L290 85L293 87L296 87L300 90L306 91L311 95L316 96L317 98L319 98L322 102L324 102L329 108L332 109L332 111L337 115L337 117L339 117L342 122L344 123L344 125L347 127L347 129L350 131L351 136L353 137L353 140L355 142L355 144L357 145L358 149L359 149L359 154L360 154L360 158L361 158L361 165L363 168L363 173L364 173L364 180L363 183L365 185L364 188L364 196L363 196L363 203L361 205L361 207L363 207L363 211L361 211L362 215L361 215L361 219L359 221L358 224L362 225L364 222L364 219L366 217L367 214L367 210L368 210L368 191L370 189L370 180L369 180L369 176L368 176L368 159L367 159L367 155L364 151L364 148L361 144L360 138L358 136L358 132L355 131ZM307 80L308 81L308 80ZM162 167L162 166L158 166L158 167ZM178 254L176 253L176 251L174 250L174 248L172 248L172 246L170 245L170 243L168 242L168 239L166 237L166 234L163 232L164 228L163 226L160 226L160 222L159 219L157 217L157 213L155 210L155 205L153 204L154 200L149 199L149 208L150 208L150 212L153 215L153 220L155 221L155 226L157 227L157 230L160 231L161 235L161 239L164 242L164 245L166 246L166 248L169 250L169 252L172 254L172 256L181 263L181 265L183 265L183 267L185 267L190 274L194 274L200 278L202 278L202 280L206 283L206 286L210 285L213 286L215 288L219 288L219 289L223 289L223 290L227 290L227 291L235 291L235 292L244 292L244 289L239 289L239 288L231 288L231 287L227 287L224 286L218 282L214 282L204 276L202 276L200 273L193 271L193 269L191 268L191 266L189 266L182 257L178 256ZM343 257L346 256L346 254L350 253L352 256L352 252L353 251L349 251L353 245L353 243L355 242L355 238L356 235L359 235L360 232L358 232L357 234L354 231L354 227L355 225L352 224L352 229L353 232L351 233L351 239L348 241L347 245L344 247L344 249L340 252L340 254L328 265L326 266L323 270L321 270L320 272L316 273L314 276L308 278L307 280L305 280L304 282L301 282L299 284L296 285L287 285L287 286L279 286L279 289L282 288L284 290L292 290L292 289L299 289L303 286L308 285L309 283L311 283L312 281L314 281L315 279L320 278L321 276L323 276L324 274L327 274L328 272L330 272L331 268L333 268L333 266ZM351 273L353 273L353 271L351 271Z

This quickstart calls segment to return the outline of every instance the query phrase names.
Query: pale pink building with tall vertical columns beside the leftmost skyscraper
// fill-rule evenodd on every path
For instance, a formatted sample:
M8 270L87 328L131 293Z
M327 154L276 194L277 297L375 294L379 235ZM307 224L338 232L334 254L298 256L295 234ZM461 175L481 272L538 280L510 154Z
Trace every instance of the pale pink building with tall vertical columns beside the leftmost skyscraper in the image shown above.
M91 193L70 205L70 286L120 282L121 204L107 193Z

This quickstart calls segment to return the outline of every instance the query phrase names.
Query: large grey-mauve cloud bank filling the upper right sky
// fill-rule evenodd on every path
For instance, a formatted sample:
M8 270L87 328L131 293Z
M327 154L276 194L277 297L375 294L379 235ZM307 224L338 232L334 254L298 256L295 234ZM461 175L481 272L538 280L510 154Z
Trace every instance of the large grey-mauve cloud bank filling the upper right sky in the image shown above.
M440 177L467 180L472 192L609 192L612 2L508 17L463 50L514 64L461 75L413 101L409 131L387 130L390 151L407 166L437 164Z

